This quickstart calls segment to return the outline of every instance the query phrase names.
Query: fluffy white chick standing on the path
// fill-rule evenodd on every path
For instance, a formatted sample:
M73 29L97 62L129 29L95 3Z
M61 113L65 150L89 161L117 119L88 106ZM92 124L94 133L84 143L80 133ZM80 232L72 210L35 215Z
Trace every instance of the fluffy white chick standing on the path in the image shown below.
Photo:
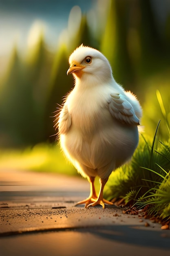
M109 175L137 147L141 106L135 95L115 82L108 60L96 49L81 45L71 54L69 64L67 74L73 74L75 86L58 119L60 146L91 184L89 197L77 204L85 208L100 204L104 209L105 204L113 204L103 198Z

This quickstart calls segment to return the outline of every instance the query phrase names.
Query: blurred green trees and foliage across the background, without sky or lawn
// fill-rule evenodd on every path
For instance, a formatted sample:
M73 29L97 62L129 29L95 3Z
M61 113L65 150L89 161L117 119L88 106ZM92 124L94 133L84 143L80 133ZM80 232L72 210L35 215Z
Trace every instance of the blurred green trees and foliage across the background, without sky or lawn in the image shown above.
M56 133L55 118L50 117L73 87L72 77L66 76L68 57L81 43L101 50L113 67L116 81L137 94L144 109L142 125L146 134L152 136L161 119L160 134L167 139L156 90L161 92L170 119L170 13L160 32L149 0L98 2L100 8L103 4L108 4L107 13L102 15L99 8L93 10L97 16L95 28L89 13L82 14L76 30L74 23L72 28L68 24L67 39L60 38L56 52L49 51L43 31L25 56L14 45L8 68L0 79L1 147L55 141L55 136L51 137Z

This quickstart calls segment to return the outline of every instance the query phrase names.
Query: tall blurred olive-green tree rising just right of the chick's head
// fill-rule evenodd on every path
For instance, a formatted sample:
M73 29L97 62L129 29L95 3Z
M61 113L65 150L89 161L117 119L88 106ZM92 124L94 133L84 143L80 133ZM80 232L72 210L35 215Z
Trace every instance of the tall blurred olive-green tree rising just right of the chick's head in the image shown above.
M115 80L131 89L135 80L128 52L128 1L112 0L106 29L101 41L101 51L108 58Z

